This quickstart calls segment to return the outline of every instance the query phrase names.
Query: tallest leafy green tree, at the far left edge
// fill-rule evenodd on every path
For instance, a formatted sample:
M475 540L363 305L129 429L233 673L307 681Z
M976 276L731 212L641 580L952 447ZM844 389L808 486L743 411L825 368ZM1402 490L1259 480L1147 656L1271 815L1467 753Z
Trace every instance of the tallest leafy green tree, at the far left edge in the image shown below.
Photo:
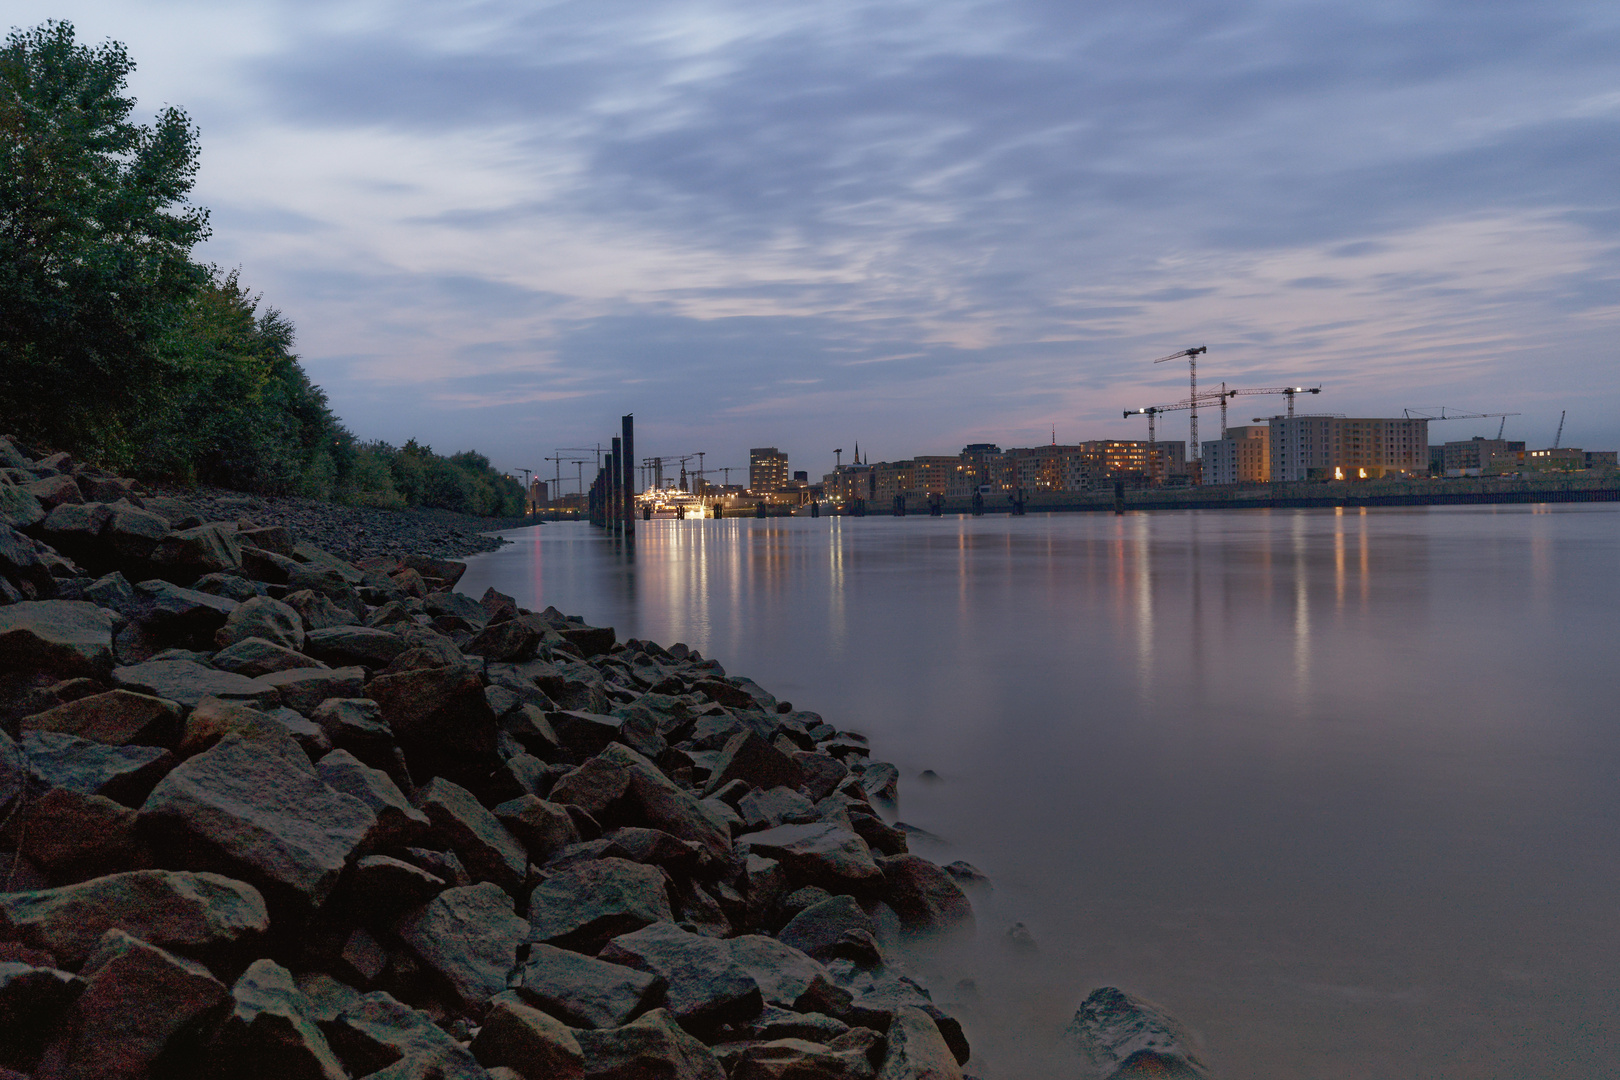
M157 347L209 279L196 128L173 107L133 123L133 70L66 21L0 50L0 426L107 461L131 457Z

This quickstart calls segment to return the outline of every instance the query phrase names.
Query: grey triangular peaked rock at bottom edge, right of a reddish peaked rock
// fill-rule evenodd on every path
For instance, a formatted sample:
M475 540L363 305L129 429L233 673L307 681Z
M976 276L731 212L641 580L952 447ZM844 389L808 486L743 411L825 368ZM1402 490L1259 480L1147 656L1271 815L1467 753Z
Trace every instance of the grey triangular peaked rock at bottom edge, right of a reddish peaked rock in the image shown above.
M256 960L230 988L233 1009L209 1046L209 1080L347 1080L309 999L274 960Z

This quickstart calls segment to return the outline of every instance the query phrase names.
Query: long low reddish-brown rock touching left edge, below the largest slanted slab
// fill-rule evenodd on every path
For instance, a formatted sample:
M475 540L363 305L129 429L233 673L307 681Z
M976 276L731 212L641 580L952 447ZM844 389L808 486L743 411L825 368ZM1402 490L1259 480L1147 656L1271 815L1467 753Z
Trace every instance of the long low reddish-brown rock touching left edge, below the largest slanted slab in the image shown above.
M259 891L219 874L136 870L60 889L0 894L0 928L78 967L107 929L207 952L271 926Z

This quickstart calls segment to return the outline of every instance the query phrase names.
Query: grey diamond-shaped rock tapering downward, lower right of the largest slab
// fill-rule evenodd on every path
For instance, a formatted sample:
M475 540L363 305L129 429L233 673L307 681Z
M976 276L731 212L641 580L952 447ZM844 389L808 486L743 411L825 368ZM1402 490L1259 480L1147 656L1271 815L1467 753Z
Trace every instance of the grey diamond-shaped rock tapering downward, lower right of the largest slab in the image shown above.
M399 923L400 939L437 972L462 1007L507 988L528 923L512 913L512 897L488 881L446 889Z

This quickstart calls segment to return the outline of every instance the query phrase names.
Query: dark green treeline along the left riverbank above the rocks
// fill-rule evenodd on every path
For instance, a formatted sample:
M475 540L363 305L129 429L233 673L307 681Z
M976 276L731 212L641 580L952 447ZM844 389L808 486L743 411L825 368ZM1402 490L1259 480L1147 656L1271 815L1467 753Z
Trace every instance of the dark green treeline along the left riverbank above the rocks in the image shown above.
M133 68L65 21L0 52L0 432L149 481L522 513L480 453L356 440L292 322L193 259L198 131L173 107L133 123Z

